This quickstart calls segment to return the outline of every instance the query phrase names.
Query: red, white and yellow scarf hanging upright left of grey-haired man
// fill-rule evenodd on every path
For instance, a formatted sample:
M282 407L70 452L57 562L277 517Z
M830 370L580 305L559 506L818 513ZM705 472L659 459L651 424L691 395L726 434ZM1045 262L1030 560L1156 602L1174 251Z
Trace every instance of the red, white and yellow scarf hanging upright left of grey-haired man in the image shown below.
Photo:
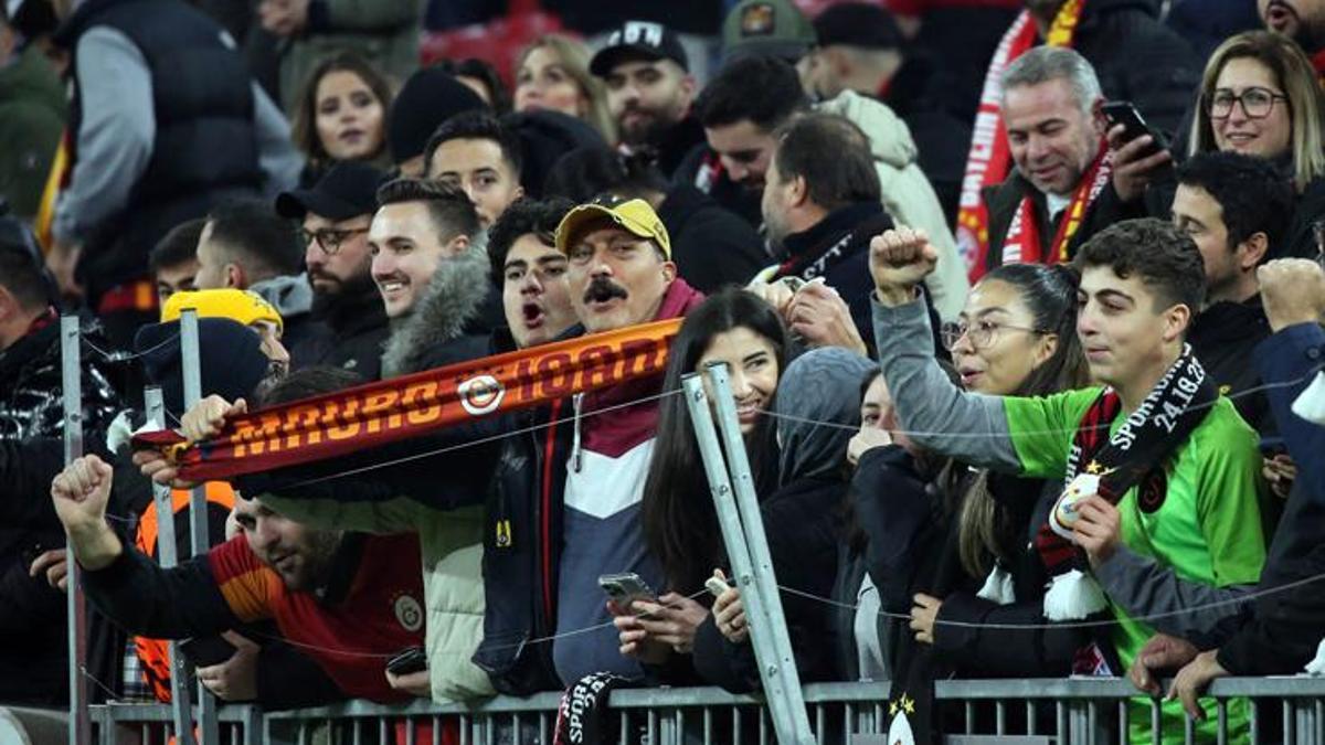
M1044 40L1047 45L1072 46L1085 3L1086 0L1067 0L1059 8ZM984 86L980 89L980 106L975 113L971 150L966 158L957 213L957 248L966 261L971 282L984 274L990 245L988 208L980 192L984 187L1003 183L1012 163L1007 133L1003 129L1003 73L1014 60L1035 46L1036 37L1035 21L1028 11L1023 11L994 50L994 58L984 74Z

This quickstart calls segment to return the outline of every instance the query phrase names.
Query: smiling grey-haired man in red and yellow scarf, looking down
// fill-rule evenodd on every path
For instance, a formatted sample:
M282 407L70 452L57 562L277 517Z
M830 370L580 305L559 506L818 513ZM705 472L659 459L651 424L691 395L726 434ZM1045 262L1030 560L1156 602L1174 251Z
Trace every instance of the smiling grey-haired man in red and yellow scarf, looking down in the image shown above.
M1122 217L1113 207L1101 102L1094 69L1071 49L1039 46L1007 68L1002 114L1016 168L982 195L987 269L1068 261Z

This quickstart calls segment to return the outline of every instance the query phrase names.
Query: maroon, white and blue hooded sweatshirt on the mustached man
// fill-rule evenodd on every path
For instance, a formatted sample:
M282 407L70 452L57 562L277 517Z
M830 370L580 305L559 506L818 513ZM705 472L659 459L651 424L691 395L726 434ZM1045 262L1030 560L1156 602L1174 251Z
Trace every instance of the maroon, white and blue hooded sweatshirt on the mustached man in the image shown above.
M704 296L673 280L656 321L685 315ZM558 677L572 684L594 672L627 677L643 675L639 663L621 656L610 624L600 574L633 571L655 590L662 570L648 554L640 533L640 504L657 435L661 378L632 380L613 388L575 396L574 441L566 463L564 546L558 582L556 630L607 624L588 634L564 636L553 644ZM631 403L637 402L637 403ZM612 411L596 415L603 410Z

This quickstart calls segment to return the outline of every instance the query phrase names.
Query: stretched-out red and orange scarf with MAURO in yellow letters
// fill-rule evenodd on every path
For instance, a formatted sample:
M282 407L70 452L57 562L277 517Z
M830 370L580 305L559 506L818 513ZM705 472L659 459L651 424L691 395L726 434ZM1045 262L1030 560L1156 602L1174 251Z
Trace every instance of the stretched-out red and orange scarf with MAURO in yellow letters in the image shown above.
M188 443L175 431L134 437L187 481L315 463L437 430L657 376L681 318L485 357L236 416Z

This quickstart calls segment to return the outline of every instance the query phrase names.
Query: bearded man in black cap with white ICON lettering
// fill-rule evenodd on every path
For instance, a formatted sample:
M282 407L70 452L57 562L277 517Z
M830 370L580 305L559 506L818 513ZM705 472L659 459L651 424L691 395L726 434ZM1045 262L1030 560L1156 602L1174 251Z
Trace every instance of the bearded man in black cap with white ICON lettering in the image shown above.
M690 114L696 82L689 68L676 33L651 21L625 21L588 65L607 85L621 150L649 151L668 176L704 142L704 130Z

